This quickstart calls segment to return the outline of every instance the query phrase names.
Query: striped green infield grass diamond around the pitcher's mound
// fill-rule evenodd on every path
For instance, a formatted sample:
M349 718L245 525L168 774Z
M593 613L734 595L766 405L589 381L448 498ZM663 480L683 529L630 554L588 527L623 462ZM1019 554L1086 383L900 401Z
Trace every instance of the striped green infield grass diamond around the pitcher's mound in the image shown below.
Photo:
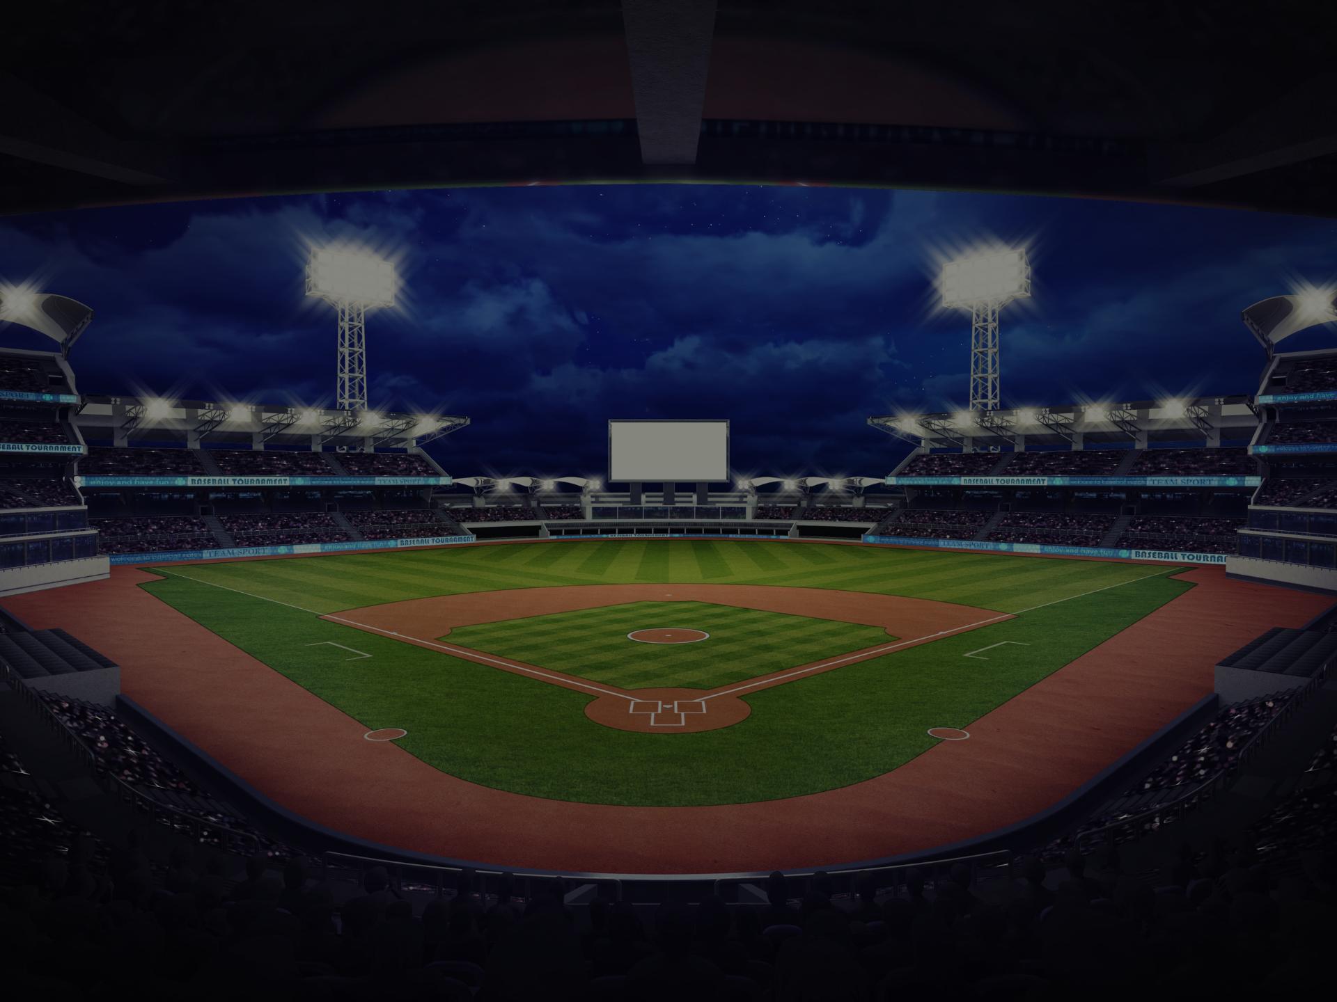
M640 644L627 633L702 629L694 644ZM711 603L627 603L457 627L452 644L623 689L714 689L892 640L880 627Z

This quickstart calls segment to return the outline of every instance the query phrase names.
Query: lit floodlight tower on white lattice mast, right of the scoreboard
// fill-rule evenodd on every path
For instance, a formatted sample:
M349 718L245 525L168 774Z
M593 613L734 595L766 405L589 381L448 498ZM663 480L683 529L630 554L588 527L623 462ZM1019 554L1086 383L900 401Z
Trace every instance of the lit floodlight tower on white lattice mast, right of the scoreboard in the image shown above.
M943 265L943 306L971 311L971 410L999 409L999 311L1031 295L1025 250L985 250Z

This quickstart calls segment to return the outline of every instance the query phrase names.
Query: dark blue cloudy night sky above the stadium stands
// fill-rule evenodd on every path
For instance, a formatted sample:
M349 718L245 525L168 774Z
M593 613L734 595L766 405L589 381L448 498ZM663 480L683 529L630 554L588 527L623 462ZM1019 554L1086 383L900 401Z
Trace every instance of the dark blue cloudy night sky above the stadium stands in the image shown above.
M1250 393L1245 306L1337 277L1337 222L1118 202L742 186L507 187L175 203L0 220L0 281L90 305L84 393L333 403L305 242L401 255L368 315L370 402L473 425L455 476L599 474L608 418L729 418L741 474L881 476L869 414L965 405L969 317L936 254L1029 247L1004 406ZM47 347L11 325L11 346ZM1333 330L1286 349L1330 343Z

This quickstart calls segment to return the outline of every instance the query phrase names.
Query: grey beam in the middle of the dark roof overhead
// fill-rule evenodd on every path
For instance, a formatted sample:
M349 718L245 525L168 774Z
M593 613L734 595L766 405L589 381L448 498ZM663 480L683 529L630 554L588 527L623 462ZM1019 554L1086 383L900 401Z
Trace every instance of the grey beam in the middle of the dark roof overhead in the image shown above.
M622 0L640 159L694 164L715 0Z

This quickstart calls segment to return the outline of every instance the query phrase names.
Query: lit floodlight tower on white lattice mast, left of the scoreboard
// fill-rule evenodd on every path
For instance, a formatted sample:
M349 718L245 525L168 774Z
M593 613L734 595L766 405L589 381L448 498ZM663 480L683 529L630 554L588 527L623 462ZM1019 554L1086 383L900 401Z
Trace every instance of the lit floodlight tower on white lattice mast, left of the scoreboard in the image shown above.
M366 310L394 306L394 263L353 248L317 247L306 263L306 294L338 310L338 381L342 410L366 410Z

